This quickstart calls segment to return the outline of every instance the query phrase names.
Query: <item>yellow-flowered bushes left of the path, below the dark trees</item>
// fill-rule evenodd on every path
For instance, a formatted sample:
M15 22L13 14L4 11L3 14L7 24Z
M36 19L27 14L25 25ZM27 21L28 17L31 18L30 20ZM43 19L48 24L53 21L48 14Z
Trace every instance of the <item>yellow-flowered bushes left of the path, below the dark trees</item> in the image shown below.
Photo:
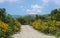
M0 21L0 38L9 38L10 35L20 31L21 24L15 20L14 25Z

